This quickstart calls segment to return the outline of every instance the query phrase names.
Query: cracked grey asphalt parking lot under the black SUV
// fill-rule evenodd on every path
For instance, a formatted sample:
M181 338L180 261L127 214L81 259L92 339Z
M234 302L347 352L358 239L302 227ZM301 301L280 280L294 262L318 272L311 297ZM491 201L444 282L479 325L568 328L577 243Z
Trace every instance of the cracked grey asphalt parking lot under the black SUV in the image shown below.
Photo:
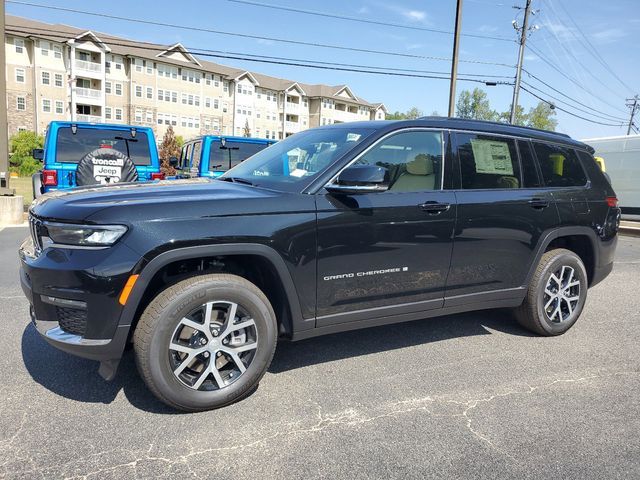
M0 477L638 478L640 238L566 335L487 311L278 347L253 395L180 414L38 338L0 231Z

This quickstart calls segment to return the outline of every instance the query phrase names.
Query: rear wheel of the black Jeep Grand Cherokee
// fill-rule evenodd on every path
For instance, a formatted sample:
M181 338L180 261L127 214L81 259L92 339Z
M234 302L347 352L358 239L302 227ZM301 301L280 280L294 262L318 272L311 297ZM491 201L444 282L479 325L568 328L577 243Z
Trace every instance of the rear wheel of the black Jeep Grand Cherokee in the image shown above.
M556 284L555 280L551 280L552 275L556 275L557 278L558 272L561 272L563 267L573 269L574 276L579 281L579 293L576 295L575 287L571 287L574 289L573 293L566 294L566 298L579 297L572 306L567 305L569 303L568 300L552 300L552 297L545 293L550 282ZM580 317L587 299L587 288L587 272L580 257L574 252L563 248L549 250L540 259L540 263L529 283L524 302L515 310L516 318L524 328L539 335L562 335ZM570 290L567 289L565 292ZM545 309L545 305L549 302L551 302L550 306ZM556 307L558 308L557 312ZM571 307L571 311L569 311L569 307ZM551 310L551 314L549 310ZM564 314L566 314L566 318L563 318ZM550 315L553 319L550 318Z

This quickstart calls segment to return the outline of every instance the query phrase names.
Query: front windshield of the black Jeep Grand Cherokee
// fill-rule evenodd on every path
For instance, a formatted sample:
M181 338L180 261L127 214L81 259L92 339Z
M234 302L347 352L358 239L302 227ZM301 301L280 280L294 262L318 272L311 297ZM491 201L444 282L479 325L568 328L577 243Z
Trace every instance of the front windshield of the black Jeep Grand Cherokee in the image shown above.
M256 153L220 178L299 191L373 131L372 128L349 128L348 124L305 130Z

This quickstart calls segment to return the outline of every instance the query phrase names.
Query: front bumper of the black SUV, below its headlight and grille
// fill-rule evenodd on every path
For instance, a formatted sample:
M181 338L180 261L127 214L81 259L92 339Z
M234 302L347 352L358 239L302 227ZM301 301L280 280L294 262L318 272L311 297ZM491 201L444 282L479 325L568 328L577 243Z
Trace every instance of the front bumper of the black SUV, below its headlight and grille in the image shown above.
M113 250L48 249L37 257L31 254L27 239L20 248L20 284L36 330L59 350L101 362L100 374L113 378L130 330L130 322L121 321L118 294L137 255L124 245ZM119 268L106 268L113 265L113 255ZM69 323L63 315L69 311L84 316Z

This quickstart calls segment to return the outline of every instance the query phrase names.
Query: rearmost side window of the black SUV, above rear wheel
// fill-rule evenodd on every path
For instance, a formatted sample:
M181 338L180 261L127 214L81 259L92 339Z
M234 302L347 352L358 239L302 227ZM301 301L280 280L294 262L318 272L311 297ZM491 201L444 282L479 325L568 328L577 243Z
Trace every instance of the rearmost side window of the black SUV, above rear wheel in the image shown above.
M548 187L575 187L587 183L575 150L560 145L533 142L542 179Z

